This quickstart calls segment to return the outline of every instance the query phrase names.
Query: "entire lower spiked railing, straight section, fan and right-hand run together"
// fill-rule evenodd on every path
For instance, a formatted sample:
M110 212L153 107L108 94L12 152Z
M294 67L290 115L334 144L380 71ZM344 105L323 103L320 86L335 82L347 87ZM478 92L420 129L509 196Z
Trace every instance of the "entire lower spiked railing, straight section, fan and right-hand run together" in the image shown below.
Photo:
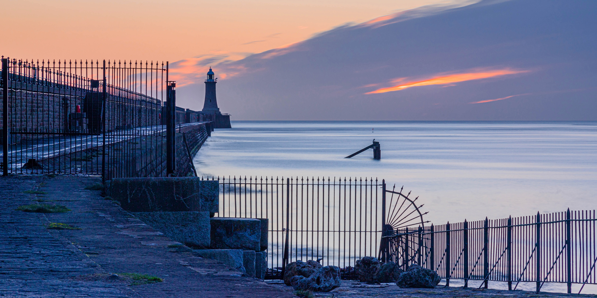
M356 260L378 256L404 270L433 269L446 285L597 283L595 211L429 225L418 197L377 179L209 179L220 182L218 216L269 219L267 278L281 278L294 260L319 259L356 279Z

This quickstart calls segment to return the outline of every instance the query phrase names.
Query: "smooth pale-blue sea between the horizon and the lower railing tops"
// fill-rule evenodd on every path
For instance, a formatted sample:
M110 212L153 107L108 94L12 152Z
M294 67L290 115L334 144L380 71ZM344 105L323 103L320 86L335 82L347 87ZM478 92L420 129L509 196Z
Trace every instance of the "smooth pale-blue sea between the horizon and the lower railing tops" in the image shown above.
M344 158L373 140L381 160L371 149ZM418 196L433 224L597 207L589 121L233 121L193 162L210 177L384 179Z

